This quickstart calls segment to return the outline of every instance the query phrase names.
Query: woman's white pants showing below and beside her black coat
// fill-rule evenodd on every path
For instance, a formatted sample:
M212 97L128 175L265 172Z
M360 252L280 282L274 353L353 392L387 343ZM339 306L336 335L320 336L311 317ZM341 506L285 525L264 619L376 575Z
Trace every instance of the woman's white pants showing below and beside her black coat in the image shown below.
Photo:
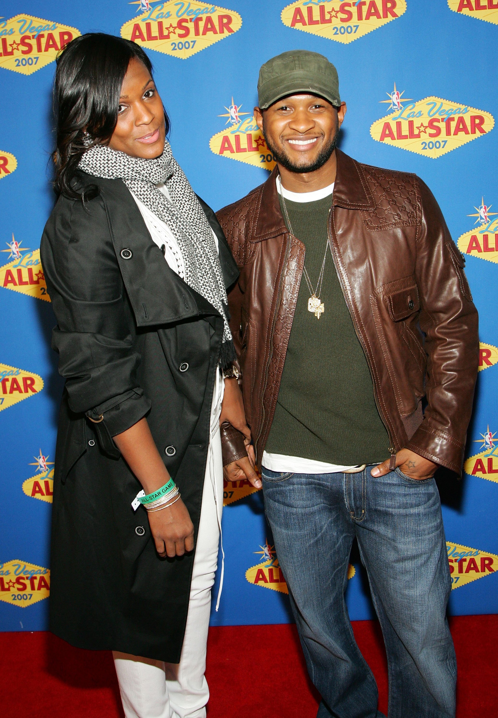
M206 717L209 698L204 676L206 642L223 508L219 428L222 396L223 380L216 381L211 411L211 441L180 663L165 663L113 651L126 718Z

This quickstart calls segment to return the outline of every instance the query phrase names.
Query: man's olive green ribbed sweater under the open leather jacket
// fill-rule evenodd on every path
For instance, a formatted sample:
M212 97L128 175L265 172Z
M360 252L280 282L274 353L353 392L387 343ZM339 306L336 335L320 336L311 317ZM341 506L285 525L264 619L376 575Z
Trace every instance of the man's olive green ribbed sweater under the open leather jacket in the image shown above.
M326 248L331 204L332 195L315 202L285 200L292 233L306 247L305 267L313 289ZM321 290L325 311L318 320L308 312L310 296L303 273L265 450L337 465L384 461L389 437L330 249Z

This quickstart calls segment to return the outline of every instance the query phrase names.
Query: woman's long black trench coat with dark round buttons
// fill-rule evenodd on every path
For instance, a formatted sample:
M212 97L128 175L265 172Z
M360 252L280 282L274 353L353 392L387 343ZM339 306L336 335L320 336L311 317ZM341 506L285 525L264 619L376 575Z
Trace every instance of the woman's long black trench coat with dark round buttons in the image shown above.
M121 180L81 174L100 192L60 197L41 241L65 377L55 455L50 629L80 648L177 663L193 554L161 559L141 485L111 437L147 416L195 526L223 320L173 272ZM226 286L238 270L218 221ZM101 424L94 418L103 414Z

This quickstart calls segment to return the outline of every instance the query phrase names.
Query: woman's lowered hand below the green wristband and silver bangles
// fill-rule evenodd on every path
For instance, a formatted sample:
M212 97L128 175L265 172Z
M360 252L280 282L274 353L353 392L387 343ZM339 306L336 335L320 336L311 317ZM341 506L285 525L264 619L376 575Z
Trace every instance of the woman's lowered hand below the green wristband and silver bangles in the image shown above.
M147 514L157 553L164 557L183 556L193 551L193 523L187 507L178 499L170 508Z

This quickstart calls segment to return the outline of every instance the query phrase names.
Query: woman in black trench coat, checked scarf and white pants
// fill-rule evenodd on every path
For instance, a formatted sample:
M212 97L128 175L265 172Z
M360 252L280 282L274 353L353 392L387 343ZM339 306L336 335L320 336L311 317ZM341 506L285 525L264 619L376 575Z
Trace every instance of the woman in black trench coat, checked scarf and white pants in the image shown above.
M60 197L41 253L66 383L50 627L80 648L114 651L126 718L200 718L220 414L250 437L226 317L238 271L172 157L138 45L73 40L57 60L55 97Z

